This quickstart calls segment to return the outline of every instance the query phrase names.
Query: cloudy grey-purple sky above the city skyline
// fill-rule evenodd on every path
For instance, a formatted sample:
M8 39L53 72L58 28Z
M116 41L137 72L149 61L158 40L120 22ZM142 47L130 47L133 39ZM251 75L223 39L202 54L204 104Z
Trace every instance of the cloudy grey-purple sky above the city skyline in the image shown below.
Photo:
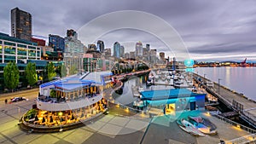
M0 32L10 34L10 10L18 7L32 14L33 35L65 37L67 29L73 29L86 46L101 39L106 48L113 49L113 43L118 41L125 46L125 52L129 52L134 51L135 43L141 41L143 47L149 43L151 49L166 52L170 57L188 53L194 60L241 61L247 58L256 61L255 5L254 0L2 1ZM124 10L152 14L153 20L144 19L140 14L119 14L108 19L112 13ZM91 22L99 18L107 21ZM177 33L163 28L163 21ZM93 25L88 25L90 22ZM131 26L134 24L141 28L134 29ZM113 28L118 25L123 28ZM103 32L111 26L111 31ZM157 32L143 31L143 26ZM94 32L102 32L102 35L91 42ZM183 40L186 49L179 48L177 37Z

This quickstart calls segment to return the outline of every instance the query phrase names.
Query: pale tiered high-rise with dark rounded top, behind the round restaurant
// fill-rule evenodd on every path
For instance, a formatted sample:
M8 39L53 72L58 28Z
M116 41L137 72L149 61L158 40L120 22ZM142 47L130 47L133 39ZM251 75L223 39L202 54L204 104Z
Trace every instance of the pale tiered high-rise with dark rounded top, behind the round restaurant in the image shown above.
M79 72L83 71L84 44L78 39L78 33L73 30L67 30L65 37L64 63L68 73L72 66Z

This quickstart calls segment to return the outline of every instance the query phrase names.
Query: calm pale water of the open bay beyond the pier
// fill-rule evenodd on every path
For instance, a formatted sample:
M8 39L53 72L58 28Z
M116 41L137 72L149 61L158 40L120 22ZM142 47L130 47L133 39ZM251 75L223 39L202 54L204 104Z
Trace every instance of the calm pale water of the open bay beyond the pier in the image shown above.
M256 67L197 67L195 73L256 101Z

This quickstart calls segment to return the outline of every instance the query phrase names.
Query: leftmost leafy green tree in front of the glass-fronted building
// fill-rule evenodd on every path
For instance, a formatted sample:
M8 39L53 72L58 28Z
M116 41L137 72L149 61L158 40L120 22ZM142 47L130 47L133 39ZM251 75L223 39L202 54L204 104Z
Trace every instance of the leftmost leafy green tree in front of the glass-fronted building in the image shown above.
M19 84L20 72L15 62L9 62L7 66L3 68L3 81L4 85L8 89L14 89Z

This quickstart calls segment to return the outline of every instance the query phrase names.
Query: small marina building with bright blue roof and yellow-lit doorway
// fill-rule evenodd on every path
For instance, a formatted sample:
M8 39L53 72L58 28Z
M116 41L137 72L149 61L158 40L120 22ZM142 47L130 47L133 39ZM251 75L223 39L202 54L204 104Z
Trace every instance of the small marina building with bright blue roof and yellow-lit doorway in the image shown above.
M193 93L189 89L164 89L143 91L142 101L148 106L164 106L166 113L183 110L204 110L207 94Z

